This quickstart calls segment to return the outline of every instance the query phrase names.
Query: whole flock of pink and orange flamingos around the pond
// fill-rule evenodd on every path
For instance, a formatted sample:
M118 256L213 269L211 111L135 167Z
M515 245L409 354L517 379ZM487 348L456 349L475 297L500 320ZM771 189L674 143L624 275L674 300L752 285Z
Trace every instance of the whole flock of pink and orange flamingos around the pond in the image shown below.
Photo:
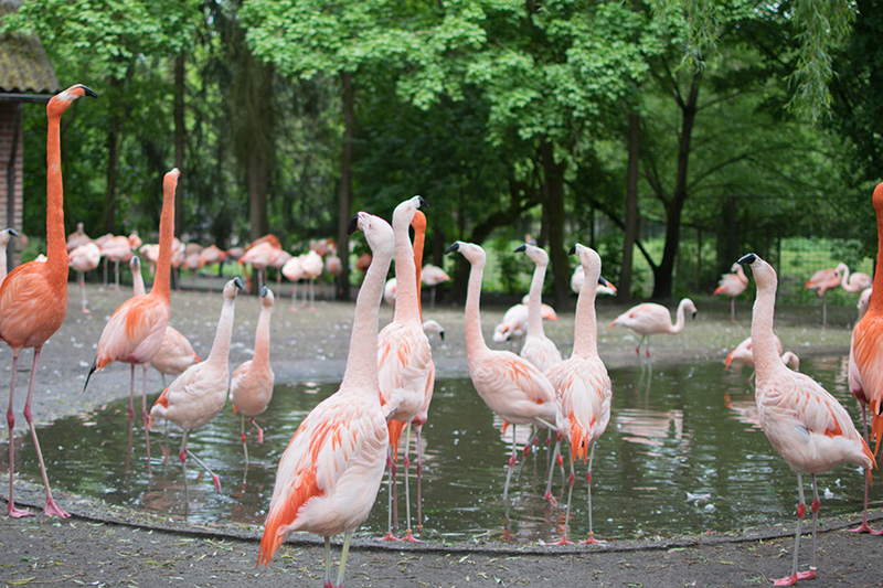
M63 188L61 174L60 121L68 106L77 98L96 97L83 85L75 85L54 96L46 106L47 129L47 207L46 238L47 252L44 260L23 264L6 276L0 287L0 339L12 349L12 383L9 393L7 415L10 439L14 425L12 398L15 389L17 365L21 351L33 348L33 366L28 387L24 417L29 424L46 491L44 513L67 516L55 502L50 490L40 443L31 415L31 398L34 389L34 375L40 352L46 340L55 333L64 321L67 309L68 263L78 271L89 269L85 261L77 265L78 257L91 256L91 267L97 266L95 250L83 252L82 247L98 247L94 243L76 244L71 248L64 235ZM159 227L159 244L156 255L145 253L156 269L150 292L145 292L140 280L138 259L132 260L136 276L136 293L123 303L108 320L97 344L95 361L89 370L91 377L113 362L131 365L131 388L129 408L129 452L131 448L132 420L135 417L134 396L136 366L141 366L142 420L149 463L149 431L155 420L167 419L180 426L183 432L180 459L187 472L187 460L192 458L204 467L187 447L190 434L204 426L232 398L234 409L242 414L242 441L247 461L246 425L257 429L258 442L263 431L254 417L262 414L269 403L273 392L273 371L269 365L269 320L274 306L274 295L263 286L259 278L262 311L257 323L255 354L253 360L238 366L232 377L228 372L228 353L233 330L234 303L237 291L243 289L240 278L234 278L223 287L223 307L217 322L215 339L206 359L199 361L192 348L180 333L168 327L170 317L170 284L174 266L173 209L174 192L179 178L177 169L168 172L163 180L163 203ZM391 494L395 489L397 447L401 435L407 431L405 453L409 446L411 429L419 441L421 428L428 417L435 382L435 365L426 335L421 309L422 256L426 218L419 210L426 206L421 196L402 202L394 211L392 224L383 218L360 212L352 220L350 233L361 231L371 249L371 260L366 265L364 281L359 290L352 324L349 356L340 388L319 403L295 432L283 455L276 474L276 484L269 505L258 564L269 564L273 555L292 531L307 531L325 537L326 542L326 586L340 586L347 563L347 554L353 531L365 521L375 503L385 471L391 478ZM883 184L873 194L873 206L880 233L879 264L883 264ZM414 243L409 228L414 228ZM8 239L13 231L2 232L0 239ZM72 235L75 237L76 235ZM120 249L129 255L137 246L130 238L121 238ZM264 240L256 244L249 263L264 267L270 265L266 258L258 259L257 253L267 248L280 249L278 244ZM77 252L76 254L74 252ZM575 244L571 255L579 259L578 275L574 276L578 289L578 301L574 321L573 353L562 359L555 344L543 333L544 306L541 292L547 254L531 244L519 247L534 264L530 293L524 308L526 312L513 322L498 327L494 339L517 336L523 332L524 343L520 354L488 348L481 331L479 298L482 274L486 265L483 249L471 243L456 242L446 253L459 253L470 264L468 293L465 309L466 348L469 373L476 391L488 407L500 416L506 426L530 426L535 436L540 429L556 434L554 459L549 484L556 468L563 468L561 442L570 447L570 469L567 511L564 534L558 544L571 543L567 537L571 501L575 483L574 462L578 459L587 463L586 485L588 496L588 538L584 543L600 543L592 531L592 462L595 441L604 434L610 418L611 384L607 370L598 356L597 321L595 298L599 291L613 291L602 277L602 263L596 252ZM185 252L184 252L185 253ZM220 260L223 255L212 246L195 255L189 264L202 266ZM249 253L242 254L240 260L249 260ZM107 258L114 259L110 256ZM321 256L316 259L307 256L279 259L277 266L283 275L297 280L302 277L315 278L322 270ZM395 257L395 282L386 282L386 274ZM309 259L308 259L309 258ZM75 261L76 260L76 261ZM120 255L117 261L125 260ZM297 261L295 261L297 260ZM94 264L94 265L93 265ZM326 256L327 271L334 271L340 260L333 255ZM295 267L297 266L297 267ZM873 290L871 278L853 274L849 277L845 266L820 272L807 284L815 287L820 296L826 290L842 286L852 291L868 292L868 309L857 323L852 333L850 350L850 391L860 402L864 436L860 435L849 415L838 400L810 377L791 371L788 362L792 359L781 355L781 344L774 334L773 319L777 277L775 270L755 254L748 254L734 265L733 274L725 275L717 295L731 298L738 296L747 286L748 278L742 271L749 266L757 285L757 298L752 318L752 336L746 350L741 352L742 361L753 363L756 372L755 395L760 426L776 451L797 472L798 509L797 532L795 535L794 563L790 575L776 580L777 586L788 586L800 579L816 576L816 531L819 512L819 494L816 474L840 463L853 463L865 469L865 516L857 531L871 532L866 522L868 481L871 470L876 467L875 453L883 435L883 284ZM4 265L3 265L4 267ZM286 272L290 269L290 275ZM118 276L118 268L117 268ZM883 281L883 266L877 267L876 279ZM82 278L81 278L82 280ZM118 284L118 277L117 277ZM606 289L606 290L605 290ZM386 290L387 299L394 291L394 318L383 330L379 330L379 307ZM292 295L294 297L294 295ZM306 295L305 295L306 297ZM733 309L731 302L731 309ZM84 295L84 310L85 295ZM695 306L684 299L678 307L677 322L671 322L669 311L659 304L643 303L619 316L610 327L621 324L641 335L641 342L655 333L675 333L683 328L687 312L695 313ZM734 309L732 310L734 312ZM745 355L746 354L746 355ZM649 343L646 350L649 361ZM727 362L740 360L734 351ZM163 363L166 362L166 363ZM178 363L175 363L178 362ZM151 408L147 406L148 365L167 366L169 374L180 374L161 394ZM86 386L88 377L86 378ZM380 391L380 394L379 394ZM866 409L872 416L871 439L868 439ZM249 429L251 430L251 429ZM869 443L875 441L872 451ZM525 446L524 452L532 445ZM422 443L417 442L417 528L422 514L421 471ZM508 500L509 483L518 462L519 449L512 436L512 452L503 490ZM10 516L20 517L32 513L18 509L13 500L14 443L9 443L9 503ZM407 457L405 458L405 490L407 487ZM128 469L128 464L127 464ZM208 468L205 468L208 470ZM808 568L799 570L798 553L801 537L801 523L806 514L802 473L812 478L812 550ZM217 477L209 470L217 488ZM552 499L550 488L547 500ZM392 495L390 503L392 503ZM406 494L406 535L413 539L411 527L409 495ZM392 505L391 505L392 512ZM392 534L392 515L387 537ZM331 581L330 537L344 533L343 550L337 581ZM880 533L880 532L879 532Z

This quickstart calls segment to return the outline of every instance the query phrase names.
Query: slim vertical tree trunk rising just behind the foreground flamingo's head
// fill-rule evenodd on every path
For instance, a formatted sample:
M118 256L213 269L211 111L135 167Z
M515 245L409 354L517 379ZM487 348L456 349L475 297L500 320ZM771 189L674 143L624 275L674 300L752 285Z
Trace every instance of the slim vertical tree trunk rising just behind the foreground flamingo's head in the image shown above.
M350 299L350 237L347 229L352 217L352 142L355 136L355 93L352 74L340 74L343 90L343 146L340 157L340 190L338 193L338 257L341 260L338 300Z

